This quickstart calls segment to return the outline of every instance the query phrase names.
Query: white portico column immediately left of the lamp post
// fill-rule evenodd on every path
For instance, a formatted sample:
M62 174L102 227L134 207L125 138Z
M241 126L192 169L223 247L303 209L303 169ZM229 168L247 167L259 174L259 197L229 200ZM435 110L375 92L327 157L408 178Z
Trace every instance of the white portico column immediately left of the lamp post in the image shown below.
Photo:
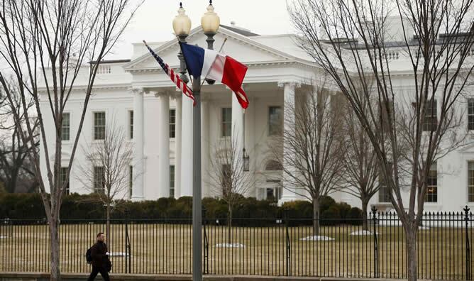
M182 99L181 194L192 196L192 99Z

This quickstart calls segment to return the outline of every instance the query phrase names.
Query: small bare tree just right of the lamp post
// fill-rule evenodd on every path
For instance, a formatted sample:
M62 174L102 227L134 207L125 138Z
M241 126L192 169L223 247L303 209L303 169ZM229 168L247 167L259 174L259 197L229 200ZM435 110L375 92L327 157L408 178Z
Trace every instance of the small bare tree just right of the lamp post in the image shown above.
M227 204L227 242L232 243L232 216L238 202L253 186L253 177L244 170L243 151L238 131L218 140L210 157L209 184L211 192Z

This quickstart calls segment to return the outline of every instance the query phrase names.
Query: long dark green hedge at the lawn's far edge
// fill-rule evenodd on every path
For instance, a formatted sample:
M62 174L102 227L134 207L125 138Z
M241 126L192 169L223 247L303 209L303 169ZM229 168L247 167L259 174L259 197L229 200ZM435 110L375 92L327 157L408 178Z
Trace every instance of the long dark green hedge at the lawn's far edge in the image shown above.
M208 224L226 224L227 205L224 200L204 198L202 200ZM253 197L238 199L233 209L233 225L263 226L275 224L275 219L290 219L292 225L312 224L312 203L307 201L286 202L277 206L271 200L257 200ZM320 202L321 224L361 224L362 211L346 203L336 203L331 197L323 197ZM135 221L166 219L168 222L191 223L192 197L160 198L153 201L117 201L112 219L130 218ZM45 210L40 194L0 194L0 219L42 220ZM97 194L70 194L64 197L60 218L104 219L105 208ZM238 219L245 218L245 219ZM216 220L219 219L219 222ZM330 220L327 220L330 219Z

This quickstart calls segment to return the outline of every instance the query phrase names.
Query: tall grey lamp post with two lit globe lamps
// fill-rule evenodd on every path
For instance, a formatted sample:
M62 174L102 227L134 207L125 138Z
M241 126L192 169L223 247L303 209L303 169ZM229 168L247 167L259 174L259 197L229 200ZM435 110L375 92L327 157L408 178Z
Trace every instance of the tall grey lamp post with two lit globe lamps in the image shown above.
M214 13L212 1L209 1L207 12L201 18L202 29L207 35L207 48L211 49L214 45L214 35L219 29L219 16ZM191 31L191 20L184 13L182 4L178 15L173 21L173 29L178 40L184 42L187 35ZM182 53L178 55L180 58L180 73L185 77L184 57ZM183 79L184 82L189 80ZM207 80L209 84L215 81ZM202 186L201 186L201 77L193 77L192 92L196 105L192 109L192 280L202 281Z

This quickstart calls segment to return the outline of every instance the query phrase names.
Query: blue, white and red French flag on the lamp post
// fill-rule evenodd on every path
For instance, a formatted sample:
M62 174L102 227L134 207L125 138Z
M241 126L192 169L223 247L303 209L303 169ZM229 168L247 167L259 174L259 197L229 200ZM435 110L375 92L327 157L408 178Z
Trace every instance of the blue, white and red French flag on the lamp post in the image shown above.
M225 84L236 94L242 108L248 107L247 95L242 89L243 78L248 68L246 65L215 50L181 42L180 46L189 75L194 78L214 79Z

